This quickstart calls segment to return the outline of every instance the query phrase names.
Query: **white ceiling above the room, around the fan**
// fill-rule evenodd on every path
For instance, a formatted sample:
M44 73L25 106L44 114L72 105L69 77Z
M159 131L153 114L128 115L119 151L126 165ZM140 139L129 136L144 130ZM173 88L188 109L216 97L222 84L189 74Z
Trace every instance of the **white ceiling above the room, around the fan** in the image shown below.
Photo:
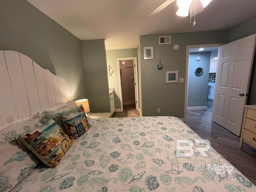
M195 27L189 16L176 16L176 2L144 19L165 1L28 0L80 40L105 39L106 50L136 48L141 35L228 29L256 15L256 0L212 0Z

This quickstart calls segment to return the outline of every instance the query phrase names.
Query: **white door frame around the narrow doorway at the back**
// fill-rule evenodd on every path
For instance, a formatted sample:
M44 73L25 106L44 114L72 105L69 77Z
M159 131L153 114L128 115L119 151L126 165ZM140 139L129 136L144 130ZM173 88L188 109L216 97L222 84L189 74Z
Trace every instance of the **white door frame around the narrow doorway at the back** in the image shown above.
M122 96L122 85L121 85L121 74L120 74L120 66L119 66L119 61L120 60L133 60L134 62L134 68L135 68L135 73L134 74L134 81L136 83L136 88L135 88L135 98L137 98L137 111L139 110L139 89L138 89L138 67L137 67L137 57L125 57L125 58L117 58L117 68L118 68L118 84L119 84L119 94L120 94L120 104L121 104L121 111L118 112L123 112L123 96ZM135 101L136 102L136 101ZM116 111L116 110L115 110Z

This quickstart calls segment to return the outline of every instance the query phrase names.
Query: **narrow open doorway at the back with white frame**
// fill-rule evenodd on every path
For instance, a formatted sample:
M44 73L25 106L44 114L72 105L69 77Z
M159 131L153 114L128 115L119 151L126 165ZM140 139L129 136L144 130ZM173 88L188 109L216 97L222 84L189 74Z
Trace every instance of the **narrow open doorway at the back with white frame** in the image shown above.
M138 111L138 70L137 58L118 58L121 110L134 106Z

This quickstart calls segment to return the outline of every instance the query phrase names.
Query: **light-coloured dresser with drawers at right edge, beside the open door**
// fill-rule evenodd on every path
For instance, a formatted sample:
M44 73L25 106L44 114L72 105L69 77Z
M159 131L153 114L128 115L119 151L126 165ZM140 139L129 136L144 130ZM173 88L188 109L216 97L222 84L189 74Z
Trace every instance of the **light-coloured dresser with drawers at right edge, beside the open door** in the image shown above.
M240 148L243 147L243 142L256 148L256 105L244 106L244 120L240 138Z

